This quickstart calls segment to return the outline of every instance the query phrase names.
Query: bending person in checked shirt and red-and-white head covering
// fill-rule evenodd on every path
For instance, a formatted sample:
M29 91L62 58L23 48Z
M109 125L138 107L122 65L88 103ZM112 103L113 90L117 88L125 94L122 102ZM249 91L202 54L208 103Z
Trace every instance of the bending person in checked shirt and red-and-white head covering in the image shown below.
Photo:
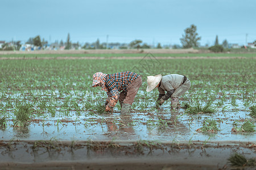
M121 105L121 114L130 113L131 104L133 104L135 95L141 87L142 78L137 73L125 71L114 74L104 74L101 72L93 75L92 87L101 86L108 94L105 111L113 111L113 107L119 103Z

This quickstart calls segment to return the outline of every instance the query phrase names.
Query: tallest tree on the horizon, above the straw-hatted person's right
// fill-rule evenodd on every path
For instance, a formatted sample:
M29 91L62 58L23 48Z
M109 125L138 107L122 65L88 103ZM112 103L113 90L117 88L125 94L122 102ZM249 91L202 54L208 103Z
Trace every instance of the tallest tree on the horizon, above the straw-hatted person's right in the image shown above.
M198 41L201 40L201 37L199 37L196 32L196 25L192 24L184 31L185 35L182 35L182 38L180 39L183 48L191 48L193 46L197 47L200 45Z

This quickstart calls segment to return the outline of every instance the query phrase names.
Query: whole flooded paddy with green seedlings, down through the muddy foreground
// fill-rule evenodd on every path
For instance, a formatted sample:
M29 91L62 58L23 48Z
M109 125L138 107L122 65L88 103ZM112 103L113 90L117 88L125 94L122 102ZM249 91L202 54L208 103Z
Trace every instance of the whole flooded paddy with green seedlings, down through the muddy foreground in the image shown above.
M163 75L182 70L191 80L180 108L155 108L158 91L146 92L154 66L140 73L125 116L119 103L98 111L107 96L92 75L138 61L0 62L0 169L255 169L255 59L159 59Z

